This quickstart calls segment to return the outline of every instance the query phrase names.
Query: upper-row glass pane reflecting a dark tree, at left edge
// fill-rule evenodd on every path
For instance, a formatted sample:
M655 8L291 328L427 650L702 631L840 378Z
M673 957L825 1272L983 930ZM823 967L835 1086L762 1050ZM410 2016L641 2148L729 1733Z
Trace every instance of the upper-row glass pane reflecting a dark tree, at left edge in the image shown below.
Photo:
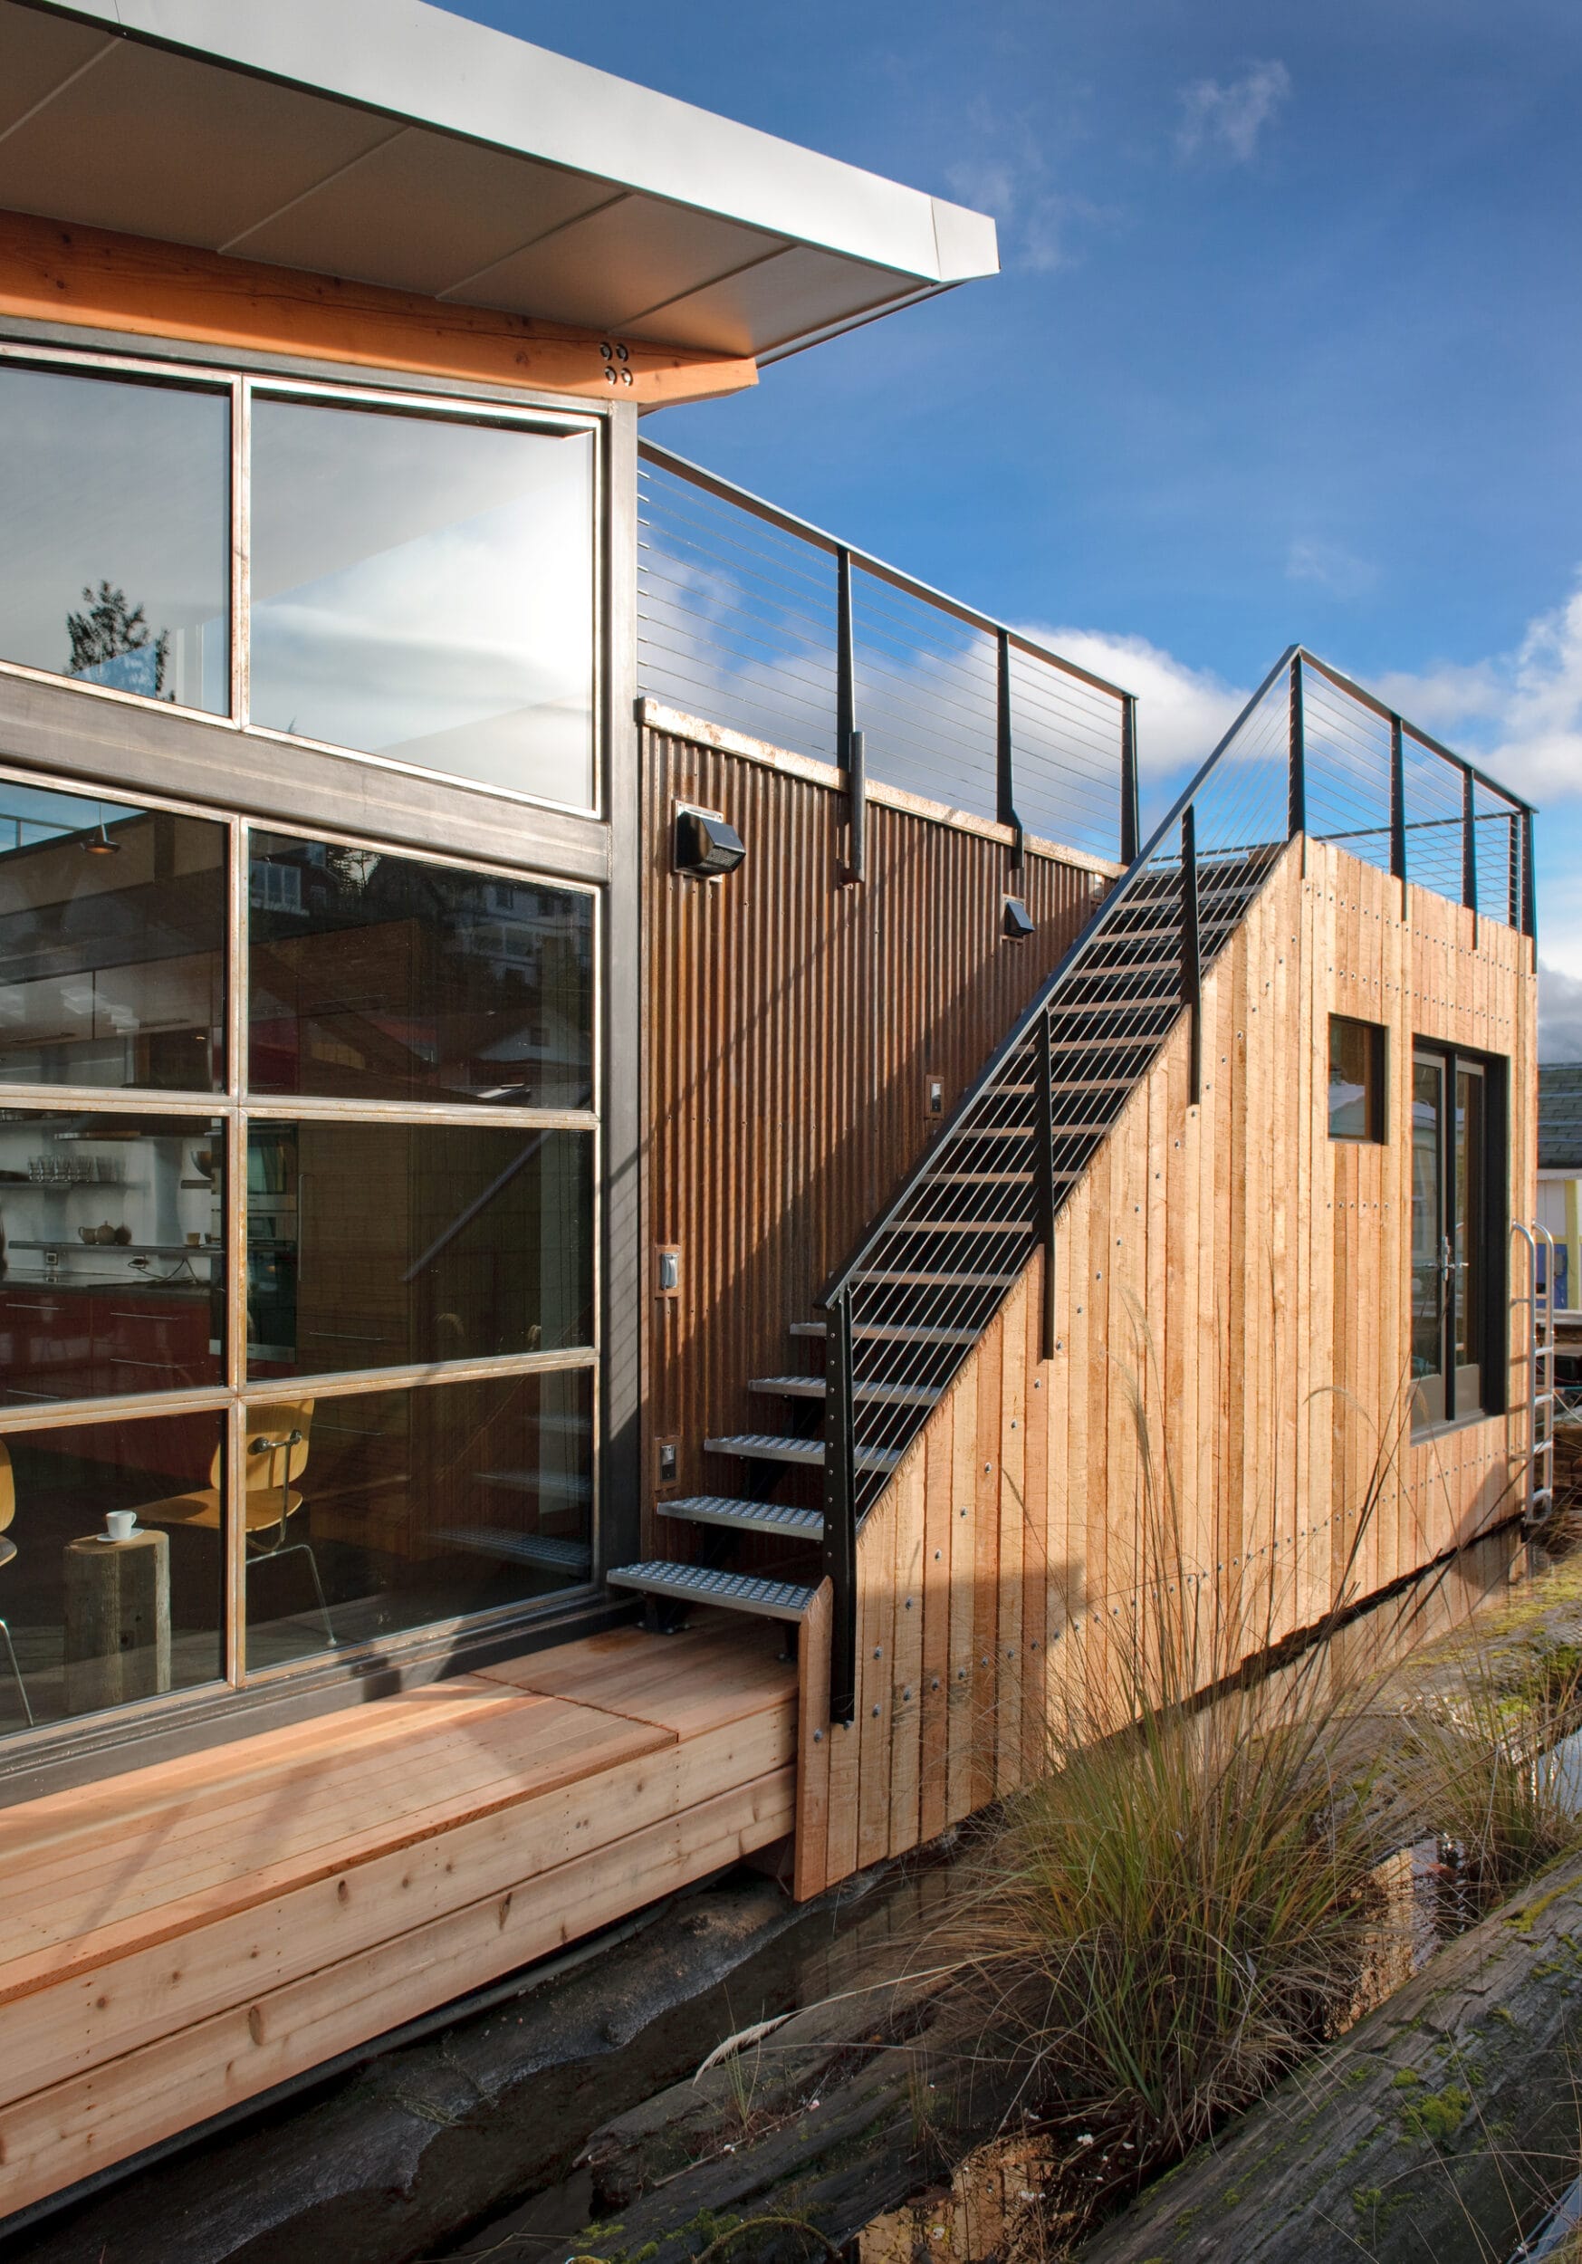
M0 654L224 715L231 396L0 369Z

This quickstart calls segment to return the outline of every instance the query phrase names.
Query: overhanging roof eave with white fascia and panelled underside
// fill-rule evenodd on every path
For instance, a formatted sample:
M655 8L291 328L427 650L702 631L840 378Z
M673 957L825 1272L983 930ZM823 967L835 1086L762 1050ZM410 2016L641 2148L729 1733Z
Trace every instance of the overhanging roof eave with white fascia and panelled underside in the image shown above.
M0 208L760 360L994 222L423 0L0 0Z

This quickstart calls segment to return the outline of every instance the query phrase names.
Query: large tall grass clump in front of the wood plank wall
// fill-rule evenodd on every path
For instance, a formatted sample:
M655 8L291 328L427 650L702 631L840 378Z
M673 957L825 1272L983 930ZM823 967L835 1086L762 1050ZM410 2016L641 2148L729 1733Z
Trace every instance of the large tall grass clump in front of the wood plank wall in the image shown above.
M1068 1664L1048 1773L991 1827L957 1920L989 2024L1025 2053L1023 2101L1084 2124L1098 2185L1179 2158L1344 2026L1392 1922L1374 1872L1410 1836L1333 1621L1240 1673L1286 1623L1276 1576L1227 1603L1186 1560L1141 1410L1136 1429L1145 1607Z

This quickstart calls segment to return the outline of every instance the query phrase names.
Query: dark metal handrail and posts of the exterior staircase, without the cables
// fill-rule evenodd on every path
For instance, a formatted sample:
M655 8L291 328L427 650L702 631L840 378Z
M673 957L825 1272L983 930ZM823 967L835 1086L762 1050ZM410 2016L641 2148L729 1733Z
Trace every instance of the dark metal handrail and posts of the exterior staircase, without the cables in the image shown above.
M1181 1003L1193 1014L1193 1071L1197 1071L1200 1060L1200 985L1202 985L1202 946L1197 935L1197 899L1200 899L1200 856L1197 844L1197 804L1218 774L1220 765L1227 763L1236 740L1249 727L1252 718L1258 713L1263 702L1276 688L1281 677L1290 679L1290 706L1288 706L1288 738L1286 738L1286 840L1295 840L1299 833L1310 831L1308 826L1308 711L1306 711L1306 670L1313 668L1317 677L1331 684L1338 693L1356 700L1360 706L1372 711L1378 720L1390 727L1390 872L1405 887L1405 767L1403 767L1403 745L1410 738L1412 745L1426 749L1439 761L1448 763L1460 774L1460 799L1462 799L1462 903L1478 910L1478 813L1476 813L1476 788L1482 786L1485 792L1496 795L1507 813L1512 829L1512 858L1510 858L1510 926L1516 933L1537 937L1537 901L1534 901L1534 878L1532 878L1532 804L1521 795L1514 795L1507 786L1491 779L1487 772L1478 770L1464 756L1453 754L1430 734L1408 724L1405 718L1394 713L1374 693L1367 693L1360 684L1347 677L1342 670L1326 661L1319 661L1304 645L1288 645L1274 666L1267 670L1258 688L1236 713L1236 720L1220 736L1211 754L1193 772L1188 783L1179 790L1166 815L1159 820L1150 833L1143 849L1132 858L1120 881L1109 890L1109 894L1095 906L1093 915L1080 931L1080 935L1064 951L1050 976L1043 980L1032 1003L1021 1012L1007 1037L994 1048L978 1078L960 1096L951 1116L939 1127L939 1134L930 1141L928 1152L919 1159L912 1173L903 1180L901 1189L885 1207L883 1216L869 1223L856 1252L846 1263L826 1281L817 1297L817 1304L826 1311L826 1431L824 1431L824 1573L833 1587L833 1623L831 1623L831 1721L851 1723L856 1712L856 1646L858 1646L858 1438L853 1417L853 1395L856 1395L856 1367L853 1367L853 1331L851 1331L851 1297L862 1275L865 1266L878 1250L885 1236L899 1232L901 1223L910 1216L910 1204L914 1202L919 1189L928 1184L939 1166L939 1157L948 1152L951 1137L966 1123L969 1114L991 1096L1005 1064L1028 1046L1032 1032L1043 1023L1043 1078L1041 1084L1050 1087L1050 1028L1052 1012L1059 992L1082 974L1084 962L1093 955L1098 946L1104 944L1107 935L1116 928L1118 915L1125 912L1127 903L1138 897L1143 876L1161 863L1161 851L1170 842L1170 835L1179 829L1181 840L1181 912L1177 949L1181 955ZM1498 813L1494 813L1498 817ZM1437 824L1437 820L1430 820ZM1385 829L1367 829L1383 833ZM1322 838L1322 835L1319 835ZM1360 838L1360 835L1351 835ZM1279 835L1267 842L1245 844L1245 854L1256 849L1274 847ZM1224 858L1227 849L1215 847L1209 851L1213 858ZM1233 851L1229 851L1233 854ZM1175 860L1175 851L1172 851ZM1161 931L1161 940L1163 940ZM1534 944L1537 949L1537 944ZM1190 964L1188 964L1190 958ZM1197 1075L1193 1073L1193 1098L1197 1098ZM1048 1118L1048 1105L1039 1116L1039 1132L1043 1134ZM1039 1137L1039 1146L1048 1146ZM1052 1286L1052 1241L1055 1241L1055 1214L1059 1202L1050 1184L1048 1159L1041 1159L1041 1168L1034 1170L1032 1204L1037 1225L1041 1229L1041 1241L1046 1241L1046 1288ZM1032 1225L1034 1220L1025 1220ZM1046 1331L1052 1327L1052 1297L1046 1297Z

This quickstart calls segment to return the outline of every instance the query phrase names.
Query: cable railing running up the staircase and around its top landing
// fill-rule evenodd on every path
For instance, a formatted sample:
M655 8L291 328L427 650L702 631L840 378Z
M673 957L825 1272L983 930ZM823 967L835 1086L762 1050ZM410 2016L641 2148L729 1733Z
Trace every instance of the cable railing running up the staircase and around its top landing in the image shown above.
M908 1444L1043 1247L1177 1019L1200 1098L1202 978L1295 835L1532 935L1532 808L1290 648L1129 863L928 1157L824 1290L831 1709L856 1693L856 1544Z

